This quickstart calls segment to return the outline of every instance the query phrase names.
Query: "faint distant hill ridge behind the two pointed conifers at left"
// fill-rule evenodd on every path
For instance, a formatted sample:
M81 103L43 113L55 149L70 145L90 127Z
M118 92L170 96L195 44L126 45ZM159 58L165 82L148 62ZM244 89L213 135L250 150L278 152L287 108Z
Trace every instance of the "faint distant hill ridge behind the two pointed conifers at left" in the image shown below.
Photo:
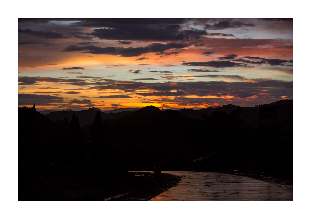
M73 112L75 112L76 115L78 115L80 126L83 127L85 125L89 125L94 122L96 112L98 111L97 110L80 110L80 111L65 111L64 110L64 111L50 112L49 114L45 116L47 116L53 122L57 120L62 120L64 118L68 118L70 121L73 115ZM100 114L101 114L102 119L106 120L106 119L117 119L123 116L127 116L133 112L135 111L122 111L122 112L116 112L116 113L101 112Z

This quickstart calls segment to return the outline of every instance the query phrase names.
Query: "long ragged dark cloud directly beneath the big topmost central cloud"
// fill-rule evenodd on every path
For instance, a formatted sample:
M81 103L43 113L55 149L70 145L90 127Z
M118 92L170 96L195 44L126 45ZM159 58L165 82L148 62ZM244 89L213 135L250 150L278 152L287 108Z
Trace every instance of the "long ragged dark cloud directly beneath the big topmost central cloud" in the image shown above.
M123 56L123 57L135 57L140 56L146 53L157 53L164 52L169 49L181 49L187 47L187 43L151 43L145 47L97 47L97 46L77 46L71 45L63 48L61 52L74 52L74 51L85 51L82 53L91 53L91 54L107 54L107 55L115 55L115 56Z

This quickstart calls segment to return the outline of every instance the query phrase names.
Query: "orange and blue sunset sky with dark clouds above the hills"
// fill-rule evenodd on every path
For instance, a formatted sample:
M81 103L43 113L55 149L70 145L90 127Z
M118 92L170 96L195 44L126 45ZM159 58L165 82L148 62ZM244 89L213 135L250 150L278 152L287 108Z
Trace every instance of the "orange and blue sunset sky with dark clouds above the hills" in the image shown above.
M18 19L18 106L102 111L293 99L293 19Z

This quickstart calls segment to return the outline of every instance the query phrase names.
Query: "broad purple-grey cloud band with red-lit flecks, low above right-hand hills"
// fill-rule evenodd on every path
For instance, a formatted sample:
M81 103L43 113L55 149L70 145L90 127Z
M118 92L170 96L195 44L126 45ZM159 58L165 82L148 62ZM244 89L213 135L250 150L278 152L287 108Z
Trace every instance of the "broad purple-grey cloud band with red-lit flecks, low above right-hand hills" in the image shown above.
M243 80L244 77L239 75L194 75L196 78L200 77L209 77L209 78L227 78L230 80ZM186 77L186 76L182 76ZM174 76L173 76L174 78ZM260 79L260 80L249 80L241 82L226 82L221 80L216 81L193 81L193 82L143 82L135 81L135 83L128 83L127 81L116 81L116 80L107 80L99 79L98 82L94 83L93 89L98 90L123 90L124 92L131 92L137 95L143 96L181 96L191 95L191 96L217 96L220 97L220 100L224 100L223 97L226 97L226 101L229 101L228 96L233 96L231 98L241 99L247 98L246 96L258 97L258 95L264 96L265 98L272 98L272 96L280 97L281 96L292 96L293 82L285 82L271 79ZM155 90L155 92L143 92L137 93L140 90ZM180 91L172 92L174 90ZM240 91L232 93L234 91ZM169 92L169 93L167 93ZM171 93L170 93L171 92ZM183 93L184 92L184 93ZM173 94L172 94L173 93ZM232 93L232 94L230 94ZM214 98L210 98L214 99ZM249 99L258 100L258 98ZM272 100L272 99L271 99ZM274 99L273 99L274 100ZM213 101L216 101L214 99ZM220 103L221 101L216 101L215 103ZM237 100L234 100L237 101ZM224 103L227 104L228 102ZM176 103L177 104L177 103Z

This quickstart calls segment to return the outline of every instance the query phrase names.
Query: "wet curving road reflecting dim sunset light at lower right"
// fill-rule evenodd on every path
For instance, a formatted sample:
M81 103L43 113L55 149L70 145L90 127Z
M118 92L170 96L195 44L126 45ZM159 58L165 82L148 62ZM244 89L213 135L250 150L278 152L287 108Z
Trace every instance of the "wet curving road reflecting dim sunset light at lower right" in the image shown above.
M179 183L150 201L292 201L293 186L223 173L162 171Z

